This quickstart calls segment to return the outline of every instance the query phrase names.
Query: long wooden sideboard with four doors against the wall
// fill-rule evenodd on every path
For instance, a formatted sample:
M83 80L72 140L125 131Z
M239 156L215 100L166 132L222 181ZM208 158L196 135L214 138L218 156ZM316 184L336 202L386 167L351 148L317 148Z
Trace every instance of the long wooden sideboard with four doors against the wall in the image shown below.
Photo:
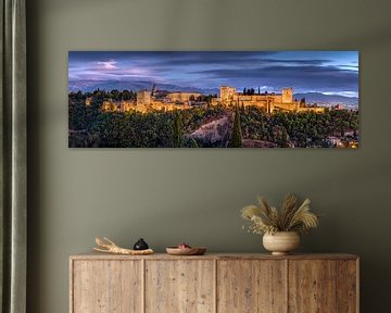
M351 254L73 255L71 313L357 313Z

